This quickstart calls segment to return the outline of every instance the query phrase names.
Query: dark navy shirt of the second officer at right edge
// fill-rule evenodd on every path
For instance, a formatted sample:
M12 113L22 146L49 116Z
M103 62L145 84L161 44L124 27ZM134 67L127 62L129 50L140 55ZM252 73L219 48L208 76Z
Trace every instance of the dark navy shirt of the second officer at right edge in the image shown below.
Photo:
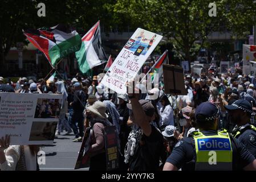
M256 158L256 131L251 129L245 130L241 135L238 135L237 139L242 142L247 150Z

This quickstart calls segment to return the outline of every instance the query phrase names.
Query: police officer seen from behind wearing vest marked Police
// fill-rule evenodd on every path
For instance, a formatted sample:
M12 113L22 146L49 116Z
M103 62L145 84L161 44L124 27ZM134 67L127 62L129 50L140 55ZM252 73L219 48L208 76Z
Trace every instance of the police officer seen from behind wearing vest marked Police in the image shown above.
M239 140L225 130L217 132L219 108L202 102L196 109L200 131L183 138L166 160L165 171L185 170L256 170L256 160Z

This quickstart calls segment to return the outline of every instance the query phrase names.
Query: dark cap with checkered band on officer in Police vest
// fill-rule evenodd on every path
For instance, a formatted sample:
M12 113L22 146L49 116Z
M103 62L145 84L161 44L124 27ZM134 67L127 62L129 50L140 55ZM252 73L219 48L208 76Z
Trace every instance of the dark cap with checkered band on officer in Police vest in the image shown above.
M219 113L219 108L212 102L202 102L196 108L196 120L197 121L213 121Z

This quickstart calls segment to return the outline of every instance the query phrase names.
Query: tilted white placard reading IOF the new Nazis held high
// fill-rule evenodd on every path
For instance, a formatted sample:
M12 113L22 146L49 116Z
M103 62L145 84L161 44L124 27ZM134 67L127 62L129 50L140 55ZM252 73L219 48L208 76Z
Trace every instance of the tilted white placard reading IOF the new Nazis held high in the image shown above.
M126 93L125 85L137 75L161 39L161 35L137 28L108 69L101 83L117 93Z

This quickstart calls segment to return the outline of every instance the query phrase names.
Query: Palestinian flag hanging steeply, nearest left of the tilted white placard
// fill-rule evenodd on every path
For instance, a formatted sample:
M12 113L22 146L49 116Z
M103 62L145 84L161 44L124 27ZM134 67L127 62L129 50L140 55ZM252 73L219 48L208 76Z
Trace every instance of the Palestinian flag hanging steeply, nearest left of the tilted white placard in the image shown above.
M76 52L76 59L82 73L107 61L105 51L101 47L100 21L83 36L80 51Z

